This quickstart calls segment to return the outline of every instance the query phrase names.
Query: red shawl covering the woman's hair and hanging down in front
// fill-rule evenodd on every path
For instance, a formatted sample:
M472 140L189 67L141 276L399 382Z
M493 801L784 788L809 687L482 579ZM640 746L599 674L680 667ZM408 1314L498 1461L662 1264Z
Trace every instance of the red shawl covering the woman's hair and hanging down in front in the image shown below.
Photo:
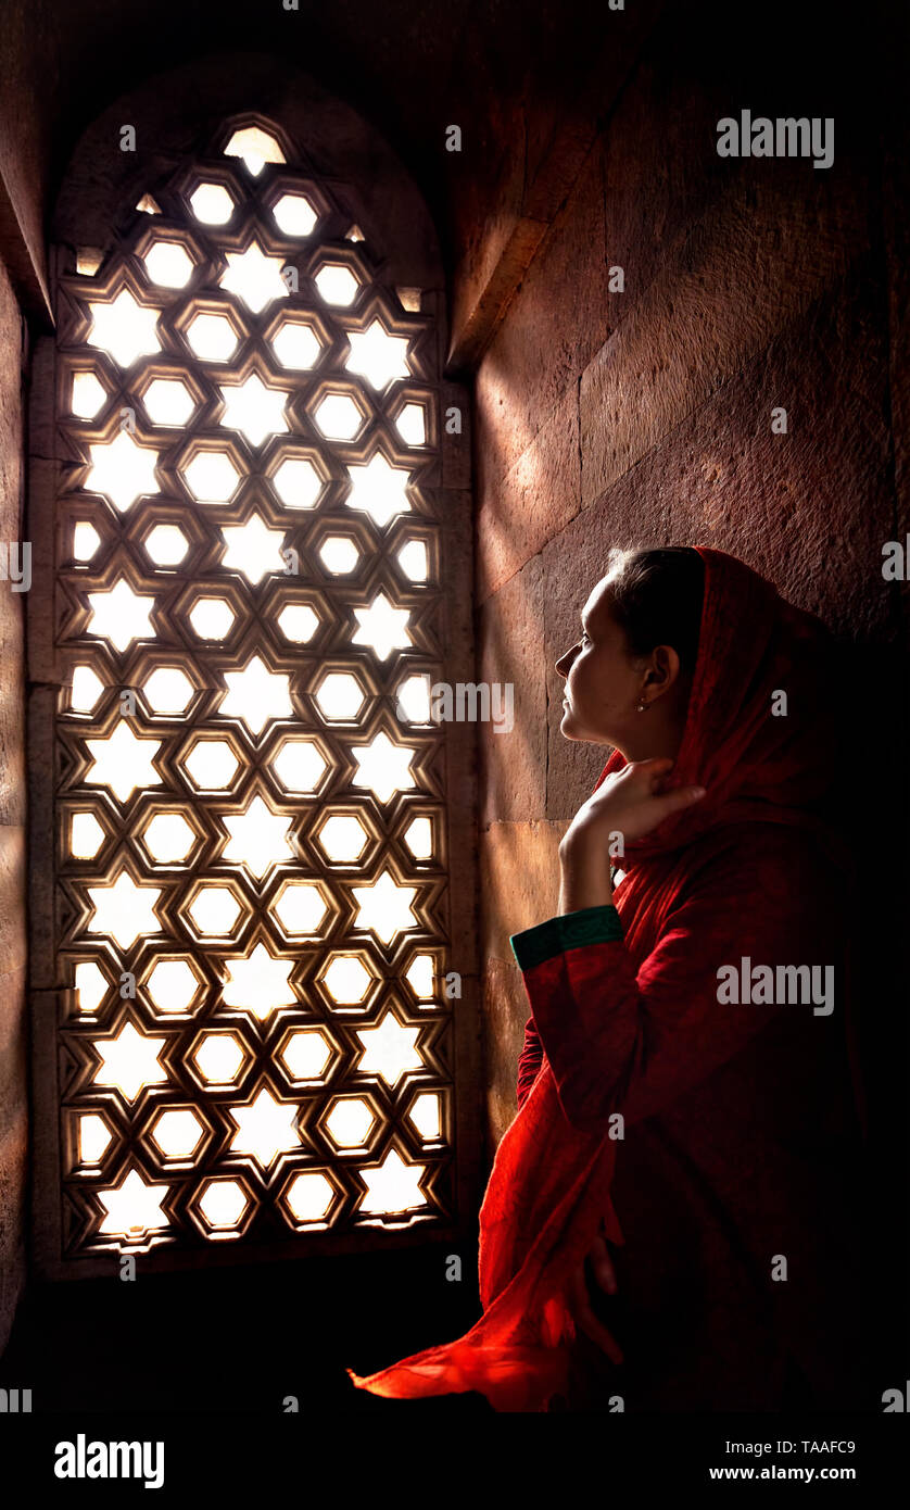
M708 548L699 554L699 655L673 784L700 782L708 794L629 843L622 868L679 850L712 827L759 818L809 829L832 864L848 871L824 815L836 770L830 636L742 562ZM776 716L780 695L786 713ZM625 764L614 750L596 787ZM666 904L655 895L655 908ZM620 889L620 920L622 911ZM616 1149L605 1129L583 1132L567 1122L543 1059L500 1142L480 1208L481 1318L457 1341L376 1374L349 1368L353 1383L395 1398L478 1391L497 1410L545 1409L564 1391L575 1335L566 1280L599 1231L623 1241L610 1200Z

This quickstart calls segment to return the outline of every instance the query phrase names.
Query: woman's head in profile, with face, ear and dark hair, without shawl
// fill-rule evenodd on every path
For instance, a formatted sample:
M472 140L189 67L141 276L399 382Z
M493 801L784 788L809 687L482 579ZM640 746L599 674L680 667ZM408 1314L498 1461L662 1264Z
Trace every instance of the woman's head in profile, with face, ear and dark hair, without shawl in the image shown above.
M555 663L566 738L613 744L628 761L676 757L699 651L705 563L688 548L619 550Z

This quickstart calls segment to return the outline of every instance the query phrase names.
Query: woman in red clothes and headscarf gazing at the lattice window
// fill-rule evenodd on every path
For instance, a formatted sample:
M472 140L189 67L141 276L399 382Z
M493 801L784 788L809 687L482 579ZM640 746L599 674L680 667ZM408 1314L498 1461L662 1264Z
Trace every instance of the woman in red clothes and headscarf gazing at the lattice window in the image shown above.
M558 914L512 939L483 1317L349 1374L500 1410L875 1409L827 631L723 551L617 551L557 669L563 732L613 753Z

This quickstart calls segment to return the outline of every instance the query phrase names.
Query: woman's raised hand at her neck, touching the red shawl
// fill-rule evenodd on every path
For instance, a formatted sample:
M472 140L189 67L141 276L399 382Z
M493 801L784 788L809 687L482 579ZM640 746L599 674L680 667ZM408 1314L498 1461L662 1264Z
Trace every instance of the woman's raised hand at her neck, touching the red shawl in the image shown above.
M593 843L607 853L610 834L623 843L640 840L672 812L691 806L705 796L703 787L667 787L675 761L669 755L631 761L614 772L581 805L563 835L560 858Z

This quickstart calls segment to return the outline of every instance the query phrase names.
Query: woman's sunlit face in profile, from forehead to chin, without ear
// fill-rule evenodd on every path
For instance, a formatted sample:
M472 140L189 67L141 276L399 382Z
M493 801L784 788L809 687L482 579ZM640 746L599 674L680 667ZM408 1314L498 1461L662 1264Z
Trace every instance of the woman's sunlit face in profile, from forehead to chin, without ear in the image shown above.
M626 637L613 618L610 577L604 577L581 610L575 645L555 663L566 678L561 732L569 740L613 744L625 752L635 734L643 664L632 661Z

